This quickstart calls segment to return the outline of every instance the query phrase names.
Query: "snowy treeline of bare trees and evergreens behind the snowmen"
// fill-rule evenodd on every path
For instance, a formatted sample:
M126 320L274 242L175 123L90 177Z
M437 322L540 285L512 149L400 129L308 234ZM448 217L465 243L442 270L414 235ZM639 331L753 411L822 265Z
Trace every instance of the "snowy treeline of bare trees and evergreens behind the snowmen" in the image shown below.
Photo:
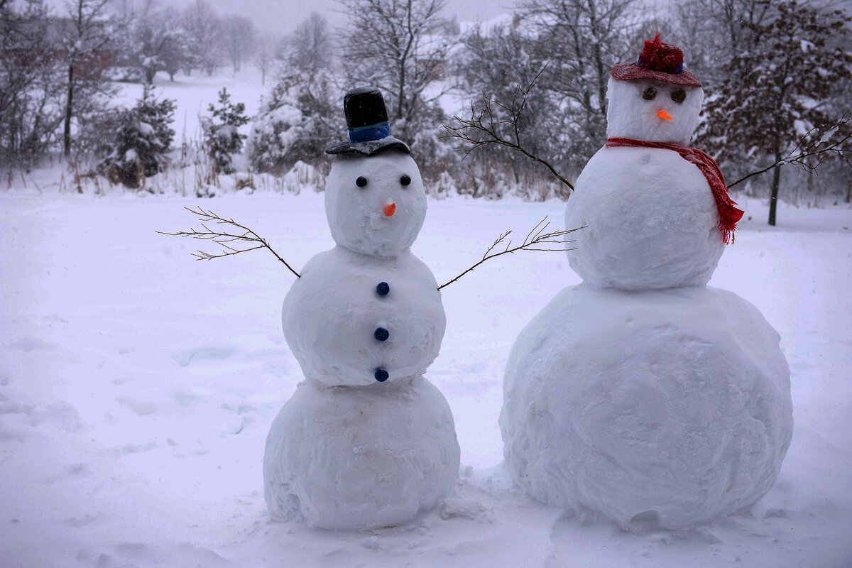
M374 84L433 194L567 198L567 186L529 155L576 179L606 140L610 67L635 60L656 32L682 47L704 84L694 145L729 180L774 163L805 135L812 145L849 135L848 125L826 131L852 109L852 20L830 2L682 0L664 12L637 0L523 0L505 18L464 29L447 17L446 0L339 3L343 29L312 14L281 37L204 0L182 10L114 0L49 10L44 0L0 0L0 159L28 169L62 157L86 164L83 175L130 187L187 160L196 169L206 160L202 184L233 173L242 176L238 186L250 185L247 173L303 176L306 168L321 179L322 149L344 136L343 93ZM245 117L223 91L202 118L203 140L181 147L173 147L174 105L153 89L134 108L112 106L120 82L249 64L263 83L256 116ZM516 111L532 83L513 122L513 100ZM481 118L485 107L491 120L482 124L515 147L459 152L442 125L458 126L453 114ZM849 203L852 164L848 154L824 152L737 189L768 195L773 185L798 203Z

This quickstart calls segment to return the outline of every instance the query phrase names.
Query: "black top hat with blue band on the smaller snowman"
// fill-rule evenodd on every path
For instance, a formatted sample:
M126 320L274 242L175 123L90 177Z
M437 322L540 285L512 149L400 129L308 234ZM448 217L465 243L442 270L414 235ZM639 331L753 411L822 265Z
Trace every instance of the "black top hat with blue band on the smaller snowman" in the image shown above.
M390 135L388 109L384 106L382 91L376 87L350 90L343 97L343 112L349 141L325 148L326 154L371 156L392 148L406 154L412 152L405 142Z

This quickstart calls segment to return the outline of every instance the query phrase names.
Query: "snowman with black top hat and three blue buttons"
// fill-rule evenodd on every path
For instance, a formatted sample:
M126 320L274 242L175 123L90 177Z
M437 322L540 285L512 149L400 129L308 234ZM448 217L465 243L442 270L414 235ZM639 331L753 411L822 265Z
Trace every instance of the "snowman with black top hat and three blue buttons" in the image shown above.
M351 90L343 106L349 141L325 150L337 246L285 297L285 338L306 380L269 430L263 478L273 519L365 529L448 496L459 448L446 399L423 378L446 318L410 250L426 215L420 172L390 135L378 89Z

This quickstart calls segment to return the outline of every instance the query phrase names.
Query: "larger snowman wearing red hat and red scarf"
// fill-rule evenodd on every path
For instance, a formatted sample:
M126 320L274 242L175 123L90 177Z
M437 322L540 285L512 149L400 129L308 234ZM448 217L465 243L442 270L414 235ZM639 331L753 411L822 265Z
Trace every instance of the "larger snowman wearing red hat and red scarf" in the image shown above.
M607 146L567 203L582 227L556 295L515 341L505 462L529 496L625 528L682 528L757 502L792 437L780 336L706 286L742 212L686 145L703 92L682 52L645 42L613 67Z

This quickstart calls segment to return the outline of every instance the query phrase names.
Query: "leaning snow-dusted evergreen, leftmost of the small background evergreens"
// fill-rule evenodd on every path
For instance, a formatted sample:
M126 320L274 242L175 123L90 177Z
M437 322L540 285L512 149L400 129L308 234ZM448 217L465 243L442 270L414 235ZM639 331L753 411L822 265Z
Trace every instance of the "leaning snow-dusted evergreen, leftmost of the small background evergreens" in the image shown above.
M175 101L156 100L153 86L146 84L136 105L120 113L112 151L98 171L112 183L143 186L145 178L163 170L175 131Z

